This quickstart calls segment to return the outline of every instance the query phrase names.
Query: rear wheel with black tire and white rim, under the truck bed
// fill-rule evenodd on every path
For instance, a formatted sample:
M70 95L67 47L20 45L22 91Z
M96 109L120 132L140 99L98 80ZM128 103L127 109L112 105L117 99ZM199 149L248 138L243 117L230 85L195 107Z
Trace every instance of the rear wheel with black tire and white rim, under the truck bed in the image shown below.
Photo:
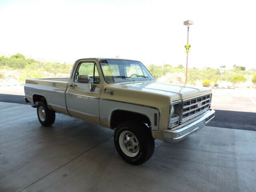
M42 126L50 126L55 122L55 111L48 109L45 102L38 102L37 117Z

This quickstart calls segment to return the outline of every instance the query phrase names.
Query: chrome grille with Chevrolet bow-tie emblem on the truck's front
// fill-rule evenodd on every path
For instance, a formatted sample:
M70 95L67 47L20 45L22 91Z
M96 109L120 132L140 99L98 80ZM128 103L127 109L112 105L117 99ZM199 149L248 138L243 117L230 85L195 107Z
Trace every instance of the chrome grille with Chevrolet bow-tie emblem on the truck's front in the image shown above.
M184 100L182 120L194 116L208 108L210 108L211 94L199 96L196 98Z

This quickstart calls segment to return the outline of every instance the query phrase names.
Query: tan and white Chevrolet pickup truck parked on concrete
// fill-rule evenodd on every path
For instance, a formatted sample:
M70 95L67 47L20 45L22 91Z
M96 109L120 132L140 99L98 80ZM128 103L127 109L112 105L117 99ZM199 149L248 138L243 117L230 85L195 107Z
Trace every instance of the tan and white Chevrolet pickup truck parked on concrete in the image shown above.
M114 130L114 145L128 163L146 162L154 140L178 142L215 116L210 88L157 82L136 60L85 58L70 78L26 79L26 102L50 126L65 114Z

